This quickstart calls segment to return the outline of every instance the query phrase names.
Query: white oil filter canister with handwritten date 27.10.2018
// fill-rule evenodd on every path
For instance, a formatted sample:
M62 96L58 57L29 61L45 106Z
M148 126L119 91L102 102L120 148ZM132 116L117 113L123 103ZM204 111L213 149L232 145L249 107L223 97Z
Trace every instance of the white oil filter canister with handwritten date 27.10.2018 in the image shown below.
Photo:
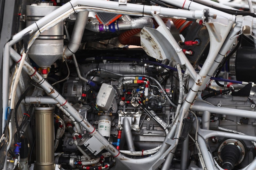
M100 116L98 121L98 131L102 136L110 136L111 131L111 117Z

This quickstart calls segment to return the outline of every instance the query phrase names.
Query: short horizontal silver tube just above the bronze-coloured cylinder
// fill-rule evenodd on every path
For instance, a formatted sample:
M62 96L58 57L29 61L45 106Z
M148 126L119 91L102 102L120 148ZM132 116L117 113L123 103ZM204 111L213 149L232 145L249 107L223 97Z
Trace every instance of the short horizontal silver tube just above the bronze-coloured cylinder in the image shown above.
M33 104L57 104L58 102L52 97L48 96L26 96L21 103L33 103Z

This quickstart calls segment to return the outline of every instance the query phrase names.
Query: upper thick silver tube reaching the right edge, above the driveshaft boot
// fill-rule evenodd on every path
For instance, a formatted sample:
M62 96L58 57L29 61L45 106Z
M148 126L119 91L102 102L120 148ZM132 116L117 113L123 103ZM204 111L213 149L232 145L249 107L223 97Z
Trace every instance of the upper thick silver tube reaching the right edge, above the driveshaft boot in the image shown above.
M191 107L192 111L214 111L217 114L234 115L246 118L256 118L255 111L232 109L226 107L212 106L204 102L195 102Z

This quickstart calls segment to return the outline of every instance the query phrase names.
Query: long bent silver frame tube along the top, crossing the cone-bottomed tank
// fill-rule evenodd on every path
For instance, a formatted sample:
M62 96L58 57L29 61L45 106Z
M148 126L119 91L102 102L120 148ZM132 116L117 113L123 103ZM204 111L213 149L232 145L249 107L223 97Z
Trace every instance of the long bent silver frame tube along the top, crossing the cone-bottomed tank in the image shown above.
M23 38L24 33L27 33L28 31L34 32L34 31L38 30L38 27L41 28L42 26L44 26L51 20L54 20L56 17L63 14L65 11L68 11L70 9L73 10L73 7L75 7L77 5L130 11L130 13L126 13L126 14L133 14L133 12L140 12L140 13L151 15L151 11L155 10L155 11L160 11L161 15L170 16L170 17L179 15L180 17L184 17L184 18L201 19L204 15L202 10L195 12L195 11L169 9L169 8L164 8L164 7L160 7L160 6L146 6L146 5L139 5L139 4L127 4L125 6L121 6L118 4L118 2L113 2L113 1L71 0L70 3L64 4L60 8L54 10L53 12L46 15L42 19L38 20L37 24L34 23L34 24L28 26L27 28L25 28L24 30L20 31L19 33L15 34L12 37L12 39L9 41L9 45L12 46L16 42L20 41ZM201 8L201 9L203 9L203 8ZM113 11L113 10L111 12L115 13L115 11ZM226 13L224 13L224 14L226 14ZM235 20L235 18L234 18L234 20ZM7 47L7 49L8 48L9 48L9 46Z

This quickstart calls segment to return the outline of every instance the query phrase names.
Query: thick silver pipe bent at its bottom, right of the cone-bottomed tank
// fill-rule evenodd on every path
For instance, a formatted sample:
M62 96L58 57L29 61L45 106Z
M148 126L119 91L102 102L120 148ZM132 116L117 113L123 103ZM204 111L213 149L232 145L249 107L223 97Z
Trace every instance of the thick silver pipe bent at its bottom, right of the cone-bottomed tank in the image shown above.
M64 54L67 57L74 54L80 47L81 40L84 34L84 29L87 22L87 18L88 18L88 14L89 14L89 11L78 12L77 14L71 39L69 41L69 44L66 46L64 50Z

